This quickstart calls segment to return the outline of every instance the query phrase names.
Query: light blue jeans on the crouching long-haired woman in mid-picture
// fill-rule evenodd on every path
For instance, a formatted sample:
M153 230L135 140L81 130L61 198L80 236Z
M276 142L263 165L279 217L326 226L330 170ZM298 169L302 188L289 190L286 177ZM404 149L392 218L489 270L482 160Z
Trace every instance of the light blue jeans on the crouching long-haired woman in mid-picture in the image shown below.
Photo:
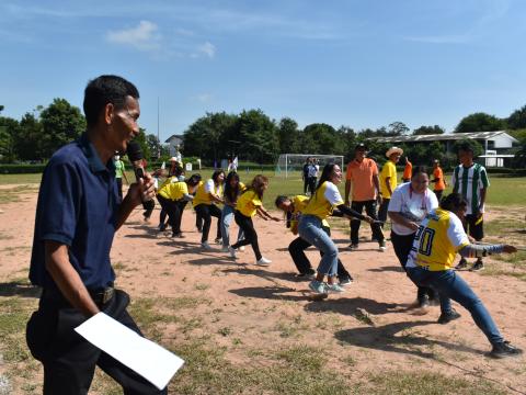
M318 272L321 274L336 275L338 247L331 237L323 230L321 219L315 215L304 215L299 219L299 236L323 252Z

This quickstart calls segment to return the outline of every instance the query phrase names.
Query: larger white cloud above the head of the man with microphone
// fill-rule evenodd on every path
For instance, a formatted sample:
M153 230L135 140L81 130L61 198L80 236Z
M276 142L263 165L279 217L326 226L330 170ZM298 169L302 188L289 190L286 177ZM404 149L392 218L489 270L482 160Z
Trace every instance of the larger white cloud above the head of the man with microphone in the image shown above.
M159 27L150 21L140 21L136 27L111 31L106 34L110 43L132 46L139 50L160 49L161 38Z

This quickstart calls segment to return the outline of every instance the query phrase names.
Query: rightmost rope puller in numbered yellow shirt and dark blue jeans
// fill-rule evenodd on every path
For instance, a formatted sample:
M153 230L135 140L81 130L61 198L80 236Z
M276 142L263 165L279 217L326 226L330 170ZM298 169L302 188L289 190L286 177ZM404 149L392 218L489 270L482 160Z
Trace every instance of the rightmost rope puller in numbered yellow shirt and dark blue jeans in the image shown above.
M462 218L468 202L458 193L441 201L439 208L432 211L420 224L409 253L405 271L416 285L431 286L441 297L438 324L447 324L460 317L451 307L451 300L466 308L482 330L493 349L490 357L515 357L523 351L502 337L482 301L467 282L453 270L455 257L480 258L493 253L516 252L510 245L471 245L464 230Z

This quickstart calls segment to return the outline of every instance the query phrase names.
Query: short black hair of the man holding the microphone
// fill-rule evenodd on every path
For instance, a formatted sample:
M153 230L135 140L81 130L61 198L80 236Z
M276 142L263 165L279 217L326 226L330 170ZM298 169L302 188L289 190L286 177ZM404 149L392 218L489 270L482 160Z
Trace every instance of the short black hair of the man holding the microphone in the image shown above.
M100 76L90 82L84 90L84 115L88 126L94 126L99 114L107 103L117 109L126 104L126 97L139 99L139 91L129 81L118 76Z

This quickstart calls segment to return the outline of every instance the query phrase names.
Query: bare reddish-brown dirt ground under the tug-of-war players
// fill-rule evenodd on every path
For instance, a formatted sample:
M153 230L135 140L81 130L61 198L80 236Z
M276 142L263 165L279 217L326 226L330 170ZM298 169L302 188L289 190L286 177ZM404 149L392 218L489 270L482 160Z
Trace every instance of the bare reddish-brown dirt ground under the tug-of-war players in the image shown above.
M26 276L35 205L33 189L21 195L21 201L0 207L1 283ZM219 346L231 345L232 337L239 338L242 346L227 351L233 363L251 360L243 349L259 345L279 348L300 341L327 354L352 358L348 380L375 371L419 370L485 379L515 394L526 391L524 357L500 361L487 358L490 345L460 306L457 311L462 317L448 325L436 324L438 307L428 308L424 315L413 308L415 287L401 271L392 246L388 242L387 251L379 252L377 244L366 241L370 233L365 226L357 251L347 249L347 235L333 230L341 259L355 281L345 293L313 302L307 291L308 282L294 275L295 267L287 251L294 236L284 223L255 219L262 252L272 259L270 267L258 267L250 246L235 261L214 245L215 219L210 244L216 250L204 252L193 211L186 210L183 216L184 239L158 233L158 215L156 206L152 222L146 224L141 211L136 210L116 234L112 250L116 286L133 300L183 295L209 300L209 304L184 314L201 317L192 329L195 336L209 334ZM236 234L233 224L231 235ZM308 256L316 268L318 253L309 250ZM493 266L506 264L488 261ZM526 349L526 282L469 271L461 275L481 296L505 338ZM225 336L224 328L230 336ZM283 336L286 330L295 334ZM164 339L178 336L173 326L167 326L162 334Z

